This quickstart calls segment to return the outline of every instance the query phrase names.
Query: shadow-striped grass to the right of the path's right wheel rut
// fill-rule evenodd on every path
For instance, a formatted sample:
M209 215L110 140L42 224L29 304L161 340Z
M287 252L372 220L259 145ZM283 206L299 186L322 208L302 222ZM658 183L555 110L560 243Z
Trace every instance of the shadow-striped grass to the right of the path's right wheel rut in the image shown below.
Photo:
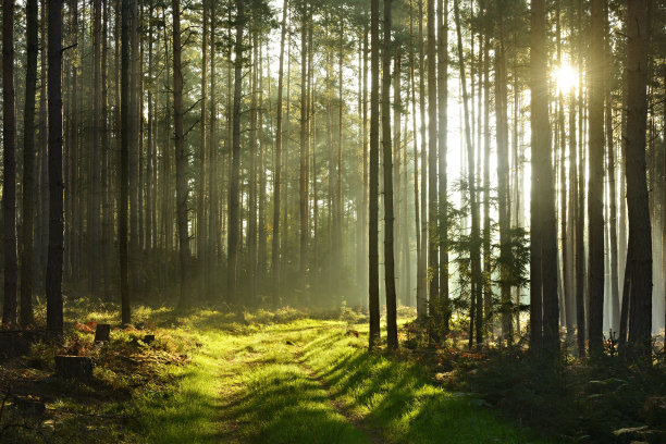
M369 424L400 443L551 443L497 418L485 403L446 392L411 362L371 353L342 333L304 348L305 362Z

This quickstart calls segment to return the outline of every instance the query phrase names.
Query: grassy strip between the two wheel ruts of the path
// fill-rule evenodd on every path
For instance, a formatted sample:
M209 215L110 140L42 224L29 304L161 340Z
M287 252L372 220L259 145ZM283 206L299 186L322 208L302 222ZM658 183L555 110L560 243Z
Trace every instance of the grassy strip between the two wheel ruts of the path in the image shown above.
M319 325L318 325L319 326ZM232 443L383 443L331 402L294 353L322 330L281 331L275 325L244 338L222 363L223 436Z

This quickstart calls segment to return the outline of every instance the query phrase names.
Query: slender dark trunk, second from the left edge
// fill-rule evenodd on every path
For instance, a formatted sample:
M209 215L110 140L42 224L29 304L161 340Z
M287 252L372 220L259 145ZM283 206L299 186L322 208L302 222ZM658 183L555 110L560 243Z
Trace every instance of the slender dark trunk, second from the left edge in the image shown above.
M9 2L13 3L13 2ZM27 63L23 114L23 196L21 227L21 325L33 323L33 222L35 213L35 92L37 90L37 0L26 2Z

